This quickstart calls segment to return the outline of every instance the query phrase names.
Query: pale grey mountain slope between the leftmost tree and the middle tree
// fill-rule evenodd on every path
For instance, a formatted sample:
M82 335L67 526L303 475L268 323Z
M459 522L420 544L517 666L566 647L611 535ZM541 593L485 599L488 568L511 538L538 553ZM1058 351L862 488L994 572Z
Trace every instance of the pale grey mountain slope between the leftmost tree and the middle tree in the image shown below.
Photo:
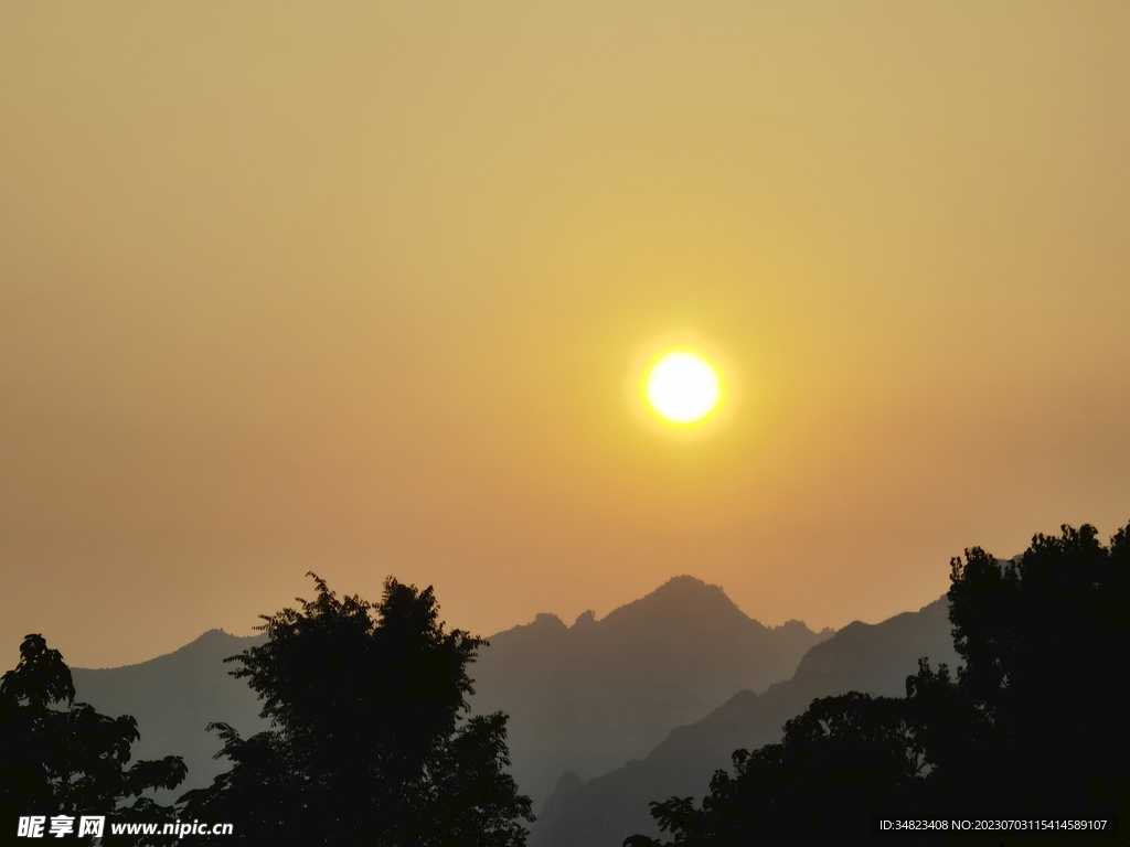
M223 721L244 734L266 727L259 717L261 704L242 680L232 679L227 656L262 644L267 636L242 638L211 629L174 653L125 667L71 669L78 700L99 711L137 718L140 741L133 745L134 759L166 754L184 757L189 776L169 792L157 792L168 803L189 788L211 783L227 770L226 761L212 756L223 745L205 727Z

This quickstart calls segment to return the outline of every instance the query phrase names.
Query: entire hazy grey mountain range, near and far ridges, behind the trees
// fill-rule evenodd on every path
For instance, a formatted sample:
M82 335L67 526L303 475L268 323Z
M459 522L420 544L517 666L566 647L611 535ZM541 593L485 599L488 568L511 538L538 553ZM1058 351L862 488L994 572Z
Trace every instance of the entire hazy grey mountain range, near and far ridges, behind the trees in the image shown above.
M227 769L211 758L220 743L209 723L245 735L266 727L254 693L228 674L236 665L223 662L264 638L211 630L138 665L75 669L78 698L138 719L136 758L184 757L189 779L163 793L167 802ZM944 600L833 635L798 621L764 627L689 576L602 620L539 614L489 641L470 667L471 705L511 716L512 772L539 813L531 847L611 847L654 831L649 801L704 794L734 749L776 741L815 697L899 696L919 657L956 663Z

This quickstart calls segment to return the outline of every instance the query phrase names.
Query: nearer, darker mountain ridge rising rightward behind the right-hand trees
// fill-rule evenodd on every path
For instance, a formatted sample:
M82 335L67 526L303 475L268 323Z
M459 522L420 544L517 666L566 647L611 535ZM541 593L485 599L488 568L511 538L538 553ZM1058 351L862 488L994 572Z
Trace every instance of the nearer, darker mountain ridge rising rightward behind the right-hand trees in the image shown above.
M785 721L812 699L853 690L905 696L906 676L922 656L935 667L941 662L956 667L947 611L942 597L881 623L851 623L812 647L792 679L760 695L734 695L702 721L672 730L643 761L632 760L584 785L576 775L563 777L538 810L530 847L619 847L635 832L655 836L650 801L701 800L714 770L729 767L734 750L779 742Z

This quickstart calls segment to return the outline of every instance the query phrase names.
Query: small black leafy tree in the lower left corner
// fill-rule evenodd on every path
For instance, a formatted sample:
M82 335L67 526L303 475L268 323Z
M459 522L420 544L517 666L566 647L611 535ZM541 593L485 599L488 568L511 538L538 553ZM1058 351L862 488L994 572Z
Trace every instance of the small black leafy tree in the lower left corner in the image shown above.
M171 809L142 792L175 788L186 774L184 761L168 756L127 769L130 746L139 737L137 722L75 702L70 669L43 636L27 636L19 654L16 669L0 678L0 838L15 836L20 815L173 820ZM131 840L162 842L118 842ZM105 842L114 841L107 822Z

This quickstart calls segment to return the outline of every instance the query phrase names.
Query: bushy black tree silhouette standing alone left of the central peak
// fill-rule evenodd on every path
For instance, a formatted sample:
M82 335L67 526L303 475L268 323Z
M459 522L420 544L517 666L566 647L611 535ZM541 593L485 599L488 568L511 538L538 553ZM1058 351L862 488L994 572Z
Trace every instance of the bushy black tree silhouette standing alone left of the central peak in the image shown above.
M524 844L518 819L533 815L504 771L506 716L466 716L486 643L445 631L431 587L390 578L374 605L310 576L318 596L264 615L269 640L233 657L271 728L216 725L233 767L182 797L185 817L257 845Z

